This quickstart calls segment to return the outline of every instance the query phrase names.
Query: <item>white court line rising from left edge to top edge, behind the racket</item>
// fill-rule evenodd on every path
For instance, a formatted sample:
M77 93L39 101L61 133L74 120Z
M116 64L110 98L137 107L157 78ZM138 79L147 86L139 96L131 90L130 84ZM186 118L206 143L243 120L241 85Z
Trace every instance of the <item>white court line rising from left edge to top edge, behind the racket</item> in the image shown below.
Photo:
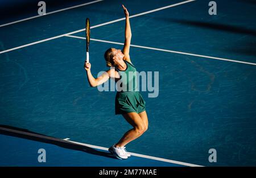
M176 3L176 4L174 4L174 5L161 7L161 8L155 9L155 10L142 12L142 13L140 13L140 14L135 14L135 15L132 15L132 16L135 17L135 16L139 16L139 15L144 15L144 14L148 14L148 13L151 13L151 12L159 11L159 10L162 10L162 9L167 9L167 8L170 8L170 7L174 7L174 6L177 6L177 5L182 5L182 4L184 4L184 3L188 3L188 2L192 2L192 1L195 1L195 0L189 0L189 1L184 1L184 2L180 2L180 3ZM130 17L130 18L131 18L131 17ZM120 20L125 20L125 18L121 18L121 19L117 19L117 20L110 21L110 22L98 24L97 26L93 26L93 27L90 27L90 28L92 29L92 28L96 28L96 27L105 26L106 24L115 23L115 22L118 22L118 21L120 21ZM57 38L60 38L60 37L66 36L66 35L72 35L73 33L78 33L78 32L82 32L82 31L85 31L85 28L79 29L79 30L77 30L77 31L65 33L65 34L63 34L63 35L58 35L58 36L50 37L50 38L48 38L48 39L44 39L44 40L40 40L40 41L35 41L34 43L30 43L30 44L18 46L18 47L11 48L11 49L7 49L7 50L2 50L2 51L0 52L0 54L6 53L6 52L10 52L10 51L12 51L12 50L24 48L24 47L26 47L26 46L31 46L31 45L34 45L34 44L43 43L44 41L49 41L49 40L57 39Z

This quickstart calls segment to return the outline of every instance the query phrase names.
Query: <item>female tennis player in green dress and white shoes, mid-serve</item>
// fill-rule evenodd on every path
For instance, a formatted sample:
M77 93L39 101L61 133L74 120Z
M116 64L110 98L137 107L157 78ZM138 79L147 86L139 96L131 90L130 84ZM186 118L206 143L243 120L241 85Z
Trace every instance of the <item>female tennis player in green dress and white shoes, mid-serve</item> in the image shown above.
M122 50L115 48L106 50L104 57L106 65L110 67L110 70L100 77L94 78L90 72L90 63L85 63L84 68L91 87L96 87L112 78L122 88L115 96L115 114L121 114L133 126L133 129L128 130L117 143L109 148L109 151L118 159L127 159L130 154L126 151L125 146L146 132L148 119L145 108L146 102L137 90L136 69L131 63L129 56L131 43L129 12L125 6L122 5L122 7L126 17L125 44ZM129 72L133 75L129 75Z

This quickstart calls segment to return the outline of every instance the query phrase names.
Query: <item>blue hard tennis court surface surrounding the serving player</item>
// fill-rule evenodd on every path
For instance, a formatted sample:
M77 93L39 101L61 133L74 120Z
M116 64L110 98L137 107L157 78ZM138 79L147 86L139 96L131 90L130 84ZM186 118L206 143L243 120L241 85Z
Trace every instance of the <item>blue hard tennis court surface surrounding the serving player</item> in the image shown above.
M14 2L1 1L2 8ZM108 70L105 50L122 48L122 3L130 12L131 61L138 71L159 72L158 97L141 92L148 130L127 150L187 166L256 166L255 1L215 1L217 15L204 0L45 1L57 12L43 16L38 2L25 2L26 13L0 20L0 125L59 141L1 133L0 166L184 166L59 145L69 138L108 148L131 128L114 115L115 92L89 87L83 67L86 18L94 77ZM38 163L38 149L48 150L46 164ZM217 162L209 162L210 149Z

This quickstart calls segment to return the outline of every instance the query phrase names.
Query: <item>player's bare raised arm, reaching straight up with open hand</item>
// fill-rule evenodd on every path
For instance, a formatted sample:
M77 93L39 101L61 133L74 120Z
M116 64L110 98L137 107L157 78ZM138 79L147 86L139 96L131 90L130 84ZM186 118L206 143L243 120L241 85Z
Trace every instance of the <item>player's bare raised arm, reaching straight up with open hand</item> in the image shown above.
M123 54L125 54L125 57L123 60L130 61L129 51L130 51L130 44L131 44L131 27L130 27L130 21L129 21L129 12L127 11L126 7L123 6L123 12L125 13L125 44L123 45Z

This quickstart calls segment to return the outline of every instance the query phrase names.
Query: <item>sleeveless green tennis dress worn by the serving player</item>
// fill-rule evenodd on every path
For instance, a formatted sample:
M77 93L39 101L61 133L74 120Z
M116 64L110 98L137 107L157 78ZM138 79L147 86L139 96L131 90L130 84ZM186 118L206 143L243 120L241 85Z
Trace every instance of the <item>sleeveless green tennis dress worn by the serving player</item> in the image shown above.
M146 101L138 91L137 71L133 64L125 61L126 70L119 70L120 79L117 80L117 95L115 95L115 115L146 110Z

